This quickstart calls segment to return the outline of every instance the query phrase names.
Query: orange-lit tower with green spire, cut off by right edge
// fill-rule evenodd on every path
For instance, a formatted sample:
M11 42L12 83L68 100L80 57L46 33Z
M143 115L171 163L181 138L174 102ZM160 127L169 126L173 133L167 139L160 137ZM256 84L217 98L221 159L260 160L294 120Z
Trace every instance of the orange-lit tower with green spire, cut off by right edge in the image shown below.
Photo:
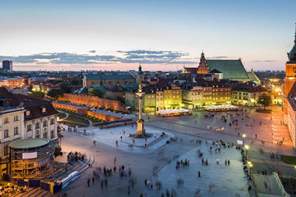
M295 24L296 25L296 24ZM289 61L286 62L286 77L285 77L285 98L284 98L284 123L287 124L288 115L288 100L287 97L296 81L296 32L294 46L288 53Z

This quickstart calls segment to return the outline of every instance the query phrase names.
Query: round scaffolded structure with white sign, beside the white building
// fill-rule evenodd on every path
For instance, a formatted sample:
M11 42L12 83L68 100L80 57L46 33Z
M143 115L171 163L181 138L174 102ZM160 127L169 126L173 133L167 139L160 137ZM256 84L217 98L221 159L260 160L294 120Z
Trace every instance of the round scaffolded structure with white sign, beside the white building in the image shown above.
M11 182L17 183L18 179L42 180L52 176L53 144L44 138L24 139L9 144Z

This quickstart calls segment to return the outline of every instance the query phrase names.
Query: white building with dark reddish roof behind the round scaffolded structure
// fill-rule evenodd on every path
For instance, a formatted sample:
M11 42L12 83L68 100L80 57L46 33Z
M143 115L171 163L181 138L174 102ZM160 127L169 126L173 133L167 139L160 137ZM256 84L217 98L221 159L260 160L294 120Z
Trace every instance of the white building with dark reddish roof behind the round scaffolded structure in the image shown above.
M12 94L0 87L0 179L9 171L10 142L32 137L57 142L57 114L47 100Z

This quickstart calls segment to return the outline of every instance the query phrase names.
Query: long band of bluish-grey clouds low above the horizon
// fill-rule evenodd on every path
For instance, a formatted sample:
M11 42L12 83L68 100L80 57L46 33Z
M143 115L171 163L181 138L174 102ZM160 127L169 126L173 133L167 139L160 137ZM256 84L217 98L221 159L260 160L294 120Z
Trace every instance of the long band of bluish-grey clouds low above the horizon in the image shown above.
M89 51L95 53L96 51ZM0 56L0 60L9 59L14 63L36 65L98 65L112 63L144 63L144 64L196 64L190 62L189 53L177 51L130 50L116 51L115 55L89 55L76 53L39 53L27 56Z

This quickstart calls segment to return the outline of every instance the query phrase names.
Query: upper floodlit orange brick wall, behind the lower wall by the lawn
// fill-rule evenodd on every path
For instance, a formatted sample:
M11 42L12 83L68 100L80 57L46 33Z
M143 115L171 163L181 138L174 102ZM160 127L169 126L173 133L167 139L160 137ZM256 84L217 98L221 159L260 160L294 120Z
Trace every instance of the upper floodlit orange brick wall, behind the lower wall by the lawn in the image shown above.
M116 111L128 112L128 110L121 104L119 100L102 99L96 96L74 94L64 94L64 96L60 100L91 105L94 107L103 107L105 109Z

